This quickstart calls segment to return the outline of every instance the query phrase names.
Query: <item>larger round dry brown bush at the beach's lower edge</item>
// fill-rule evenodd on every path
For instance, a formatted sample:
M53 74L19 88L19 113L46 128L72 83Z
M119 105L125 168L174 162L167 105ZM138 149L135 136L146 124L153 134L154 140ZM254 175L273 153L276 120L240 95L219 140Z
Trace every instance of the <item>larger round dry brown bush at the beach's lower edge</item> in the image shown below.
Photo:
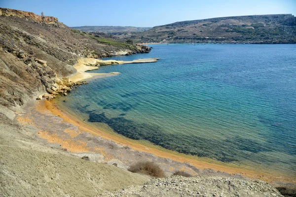
M130 166L128 171L146 174L157 178L165 177L164 171L153 162L138 162L137 164Z

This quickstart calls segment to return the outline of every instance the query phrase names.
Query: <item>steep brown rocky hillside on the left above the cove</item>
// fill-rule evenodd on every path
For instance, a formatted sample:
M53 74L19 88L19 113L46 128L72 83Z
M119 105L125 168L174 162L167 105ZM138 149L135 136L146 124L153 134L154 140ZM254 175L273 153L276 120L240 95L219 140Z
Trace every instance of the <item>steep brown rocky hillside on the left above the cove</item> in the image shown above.
M55 17L0 8L0 104L22 105L34 92L73 75L81 57L148 52L148 48L73 30ZM34 76L34 80L32 80Z

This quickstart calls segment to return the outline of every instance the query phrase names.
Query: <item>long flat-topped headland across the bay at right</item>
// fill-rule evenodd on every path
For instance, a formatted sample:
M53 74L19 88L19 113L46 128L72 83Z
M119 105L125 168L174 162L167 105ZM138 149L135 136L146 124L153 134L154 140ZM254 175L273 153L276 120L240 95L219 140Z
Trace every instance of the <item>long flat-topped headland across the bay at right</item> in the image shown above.
M117 36L136 42L296 43L296 17L273 14L182 21Z

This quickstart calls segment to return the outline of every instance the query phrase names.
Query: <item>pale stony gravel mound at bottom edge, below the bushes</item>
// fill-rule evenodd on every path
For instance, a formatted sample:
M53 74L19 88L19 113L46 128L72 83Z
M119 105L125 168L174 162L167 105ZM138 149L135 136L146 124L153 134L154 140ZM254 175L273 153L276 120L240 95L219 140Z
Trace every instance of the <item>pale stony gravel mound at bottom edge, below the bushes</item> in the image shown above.
M263 181L230 177L197 176L152 179L143 186L130 187L98 197L282 197Z

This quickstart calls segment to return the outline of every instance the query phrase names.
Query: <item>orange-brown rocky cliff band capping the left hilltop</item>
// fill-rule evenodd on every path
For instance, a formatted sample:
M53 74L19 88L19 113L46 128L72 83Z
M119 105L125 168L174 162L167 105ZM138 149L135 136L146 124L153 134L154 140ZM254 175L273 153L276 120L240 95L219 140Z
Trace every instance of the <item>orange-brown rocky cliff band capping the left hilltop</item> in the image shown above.
M0 15L2 16L17 16L30 18L37 23L53 24L58 22L58 18L53 16L40 16L33 12L26 12L16 9L0 8Z

